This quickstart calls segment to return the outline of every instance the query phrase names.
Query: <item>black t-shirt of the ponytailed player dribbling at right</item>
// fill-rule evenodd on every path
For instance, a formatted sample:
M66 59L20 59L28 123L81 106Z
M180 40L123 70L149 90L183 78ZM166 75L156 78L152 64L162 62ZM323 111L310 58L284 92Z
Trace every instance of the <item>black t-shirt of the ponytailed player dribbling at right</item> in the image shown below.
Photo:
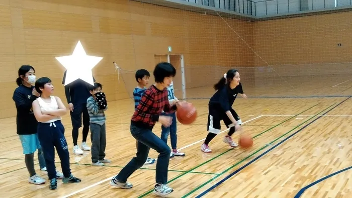
M224 112L227 112L232 107L236 100L237 94L243 93L242 84L239 83L234 89L231 89L227 84L216 91L210 98L209 105L221 107Z

